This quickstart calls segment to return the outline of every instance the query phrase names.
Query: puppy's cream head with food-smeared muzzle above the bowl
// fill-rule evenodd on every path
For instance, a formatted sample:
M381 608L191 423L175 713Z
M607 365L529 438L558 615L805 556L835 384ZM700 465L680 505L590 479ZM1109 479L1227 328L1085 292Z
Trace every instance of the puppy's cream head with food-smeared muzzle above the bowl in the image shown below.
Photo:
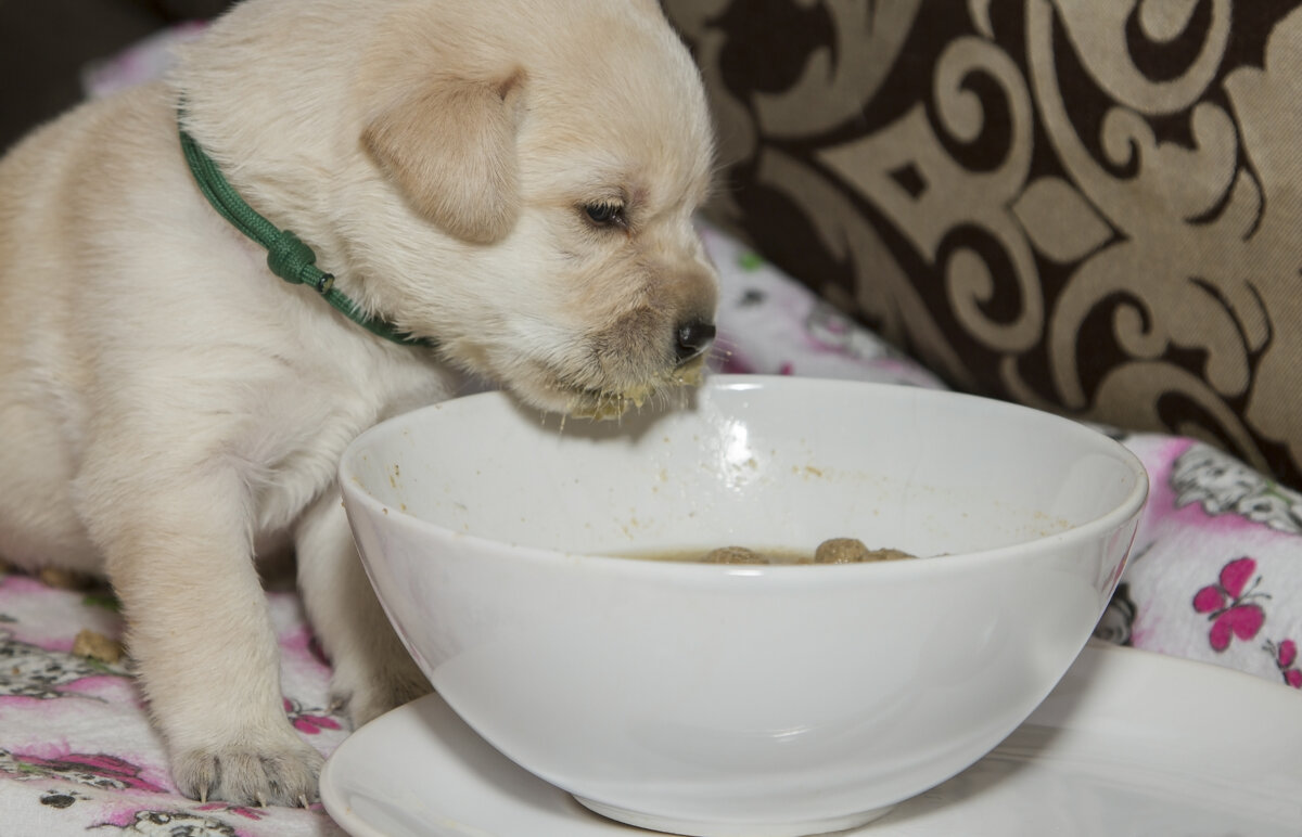
M658 5L419 3L376 43L366 301L544 409L620 414L693 379L712 134Z

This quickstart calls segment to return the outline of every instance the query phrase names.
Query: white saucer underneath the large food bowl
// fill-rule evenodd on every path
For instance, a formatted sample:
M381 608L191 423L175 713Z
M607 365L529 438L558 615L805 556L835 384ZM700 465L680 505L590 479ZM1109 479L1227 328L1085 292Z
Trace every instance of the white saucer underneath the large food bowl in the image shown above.
M331 756L322 799L354 837L631 837L493 750L430 695ZM993 752L842 837L1302 834L1302 694L1091 644Z

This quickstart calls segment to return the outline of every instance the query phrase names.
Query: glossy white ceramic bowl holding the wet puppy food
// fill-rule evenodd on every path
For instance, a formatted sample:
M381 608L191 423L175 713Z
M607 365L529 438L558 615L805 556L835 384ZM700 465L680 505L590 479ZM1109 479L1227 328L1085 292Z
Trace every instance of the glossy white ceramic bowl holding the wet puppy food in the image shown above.
M828 832L962 771L1081 651L1147 493L1113 440L1003 402L758 376L687 400L589 423L478 394L341 465L371 581L447 702L646 828ZM937 557L604 557L831 536Z

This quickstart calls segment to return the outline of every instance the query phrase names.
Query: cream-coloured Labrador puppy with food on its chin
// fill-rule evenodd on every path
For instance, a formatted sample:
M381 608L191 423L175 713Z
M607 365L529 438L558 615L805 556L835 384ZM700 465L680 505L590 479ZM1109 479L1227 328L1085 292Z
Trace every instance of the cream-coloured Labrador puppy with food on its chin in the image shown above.
M358 319L422 344L275 276L178 113ZM168 83L0 163L0 555L107 574L182 793L316 794L254 556L297 552L354 724L428 689L340 506L359 431L448 370L612 415L699 362L711 143L654 0L246 0Z

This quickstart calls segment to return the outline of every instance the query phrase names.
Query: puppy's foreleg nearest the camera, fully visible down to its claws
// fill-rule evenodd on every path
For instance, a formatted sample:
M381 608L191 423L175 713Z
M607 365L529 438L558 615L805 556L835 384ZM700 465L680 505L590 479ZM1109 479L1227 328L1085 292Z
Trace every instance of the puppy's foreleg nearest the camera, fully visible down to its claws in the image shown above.
M285 717L247 488L215 465L152 476L85 488L173 780L198 799L305 804L322 758Z

